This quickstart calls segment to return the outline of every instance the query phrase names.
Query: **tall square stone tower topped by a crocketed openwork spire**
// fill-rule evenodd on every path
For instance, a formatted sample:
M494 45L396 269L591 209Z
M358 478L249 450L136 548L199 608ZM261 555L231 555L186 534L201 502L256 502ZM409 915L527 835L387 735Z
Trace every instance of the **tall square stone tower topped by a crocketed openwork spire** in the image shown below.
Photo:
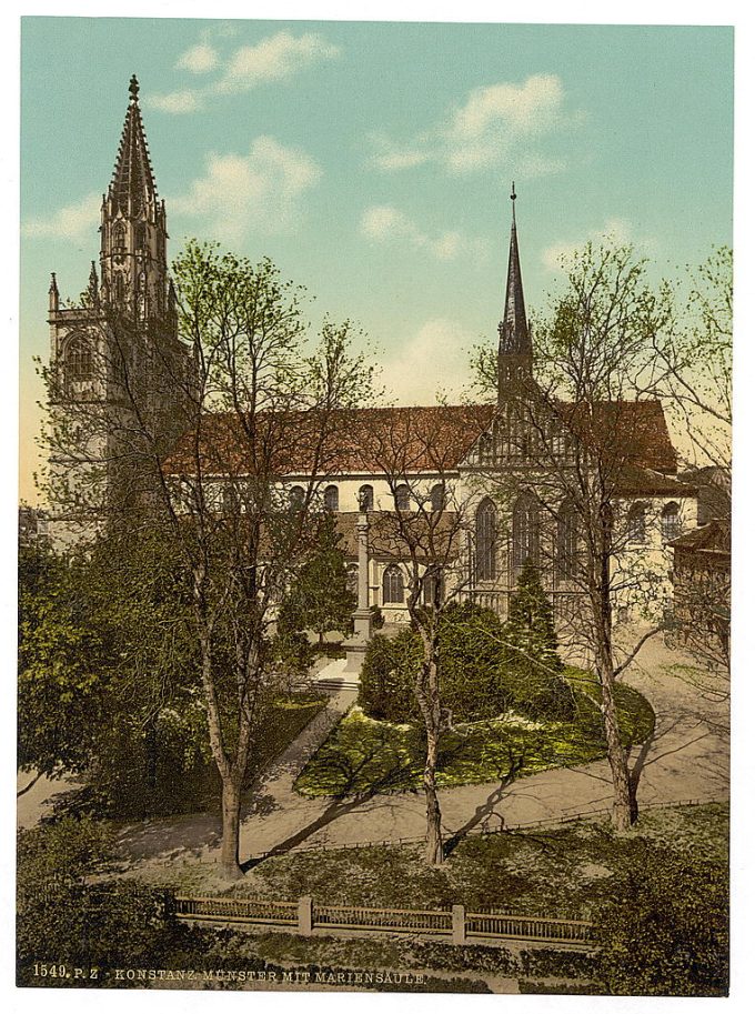
M100 222L99 278L92 261L79 301L63 307L53 274L48 297L51 533L59 543L73 541L74 529L77 539L91 538L104 516L143 500L147 462L180 435L190 391L168 275L165 205L135 77Z

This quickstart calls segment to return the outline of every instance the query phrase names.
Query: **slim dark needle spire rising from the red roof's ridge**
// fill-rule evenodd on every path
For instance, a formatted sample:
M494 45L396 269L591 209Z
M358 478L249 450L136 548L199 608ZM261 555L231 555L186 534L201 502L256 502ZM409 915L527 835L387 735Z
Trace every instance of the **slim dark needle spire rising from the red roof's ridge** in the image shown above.
M503 320L499 324L499 405L526 390L532 381L532 339L524 308L524 288L516 240L516 191L511 184L511 242Z

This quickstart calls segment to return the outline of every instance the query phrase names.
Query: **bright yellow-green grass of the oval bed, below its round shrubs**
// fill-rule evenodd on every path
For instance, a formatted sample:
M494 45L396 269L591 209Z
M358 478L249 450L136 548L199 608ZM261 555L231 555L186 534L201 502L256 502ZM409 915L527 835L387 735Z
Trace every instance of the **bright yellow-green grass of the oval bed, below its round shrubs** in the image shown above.
M441 737L437 784L501 781L604 756L595 704L600 687L580 670L568 670L567 679L578 704L575 721L532 722L509 714L460 724ZM618 685L616 691L624 742L643 742L653 731L652 707L628 686ZM421 785L423 767L421 729L375 721L355 706L310 760L294 787L306 796L402 792Z

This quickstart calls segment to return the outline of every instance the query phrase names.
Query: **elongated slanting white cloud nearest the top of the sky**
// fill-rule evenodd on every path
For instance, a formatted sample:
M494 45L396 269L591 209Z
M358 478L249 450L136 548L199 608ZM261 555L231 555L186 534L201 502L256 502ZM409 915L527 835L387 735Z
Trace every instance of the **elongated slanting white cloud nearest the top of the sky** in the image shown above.
M256 46L242 46L229 61L217 83L220 92L248 91L265 81L280 81L322 60L332 60L340 50L319 32L292 36L281 31Z

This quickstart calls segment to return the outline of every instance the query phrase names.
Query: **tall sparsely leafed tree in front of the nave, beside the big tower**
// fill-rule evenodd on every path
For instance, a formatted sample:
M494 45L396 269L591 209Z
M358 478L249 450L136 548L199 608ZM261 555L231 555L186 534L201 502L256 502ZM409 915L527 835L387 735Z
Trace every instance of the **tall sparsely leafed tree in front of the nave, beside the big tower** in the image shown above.
M326 324L305 351L300 293L269 261L190 243L174 270L180 353L120 314L92 350L87 391L48 373L50 491L72 522L158 525L173 548L191 588L222 782L221 866L233 879L244 776L275 691L276 603L316 539L339 412L364 398L370 370L349 352L349 323Z

